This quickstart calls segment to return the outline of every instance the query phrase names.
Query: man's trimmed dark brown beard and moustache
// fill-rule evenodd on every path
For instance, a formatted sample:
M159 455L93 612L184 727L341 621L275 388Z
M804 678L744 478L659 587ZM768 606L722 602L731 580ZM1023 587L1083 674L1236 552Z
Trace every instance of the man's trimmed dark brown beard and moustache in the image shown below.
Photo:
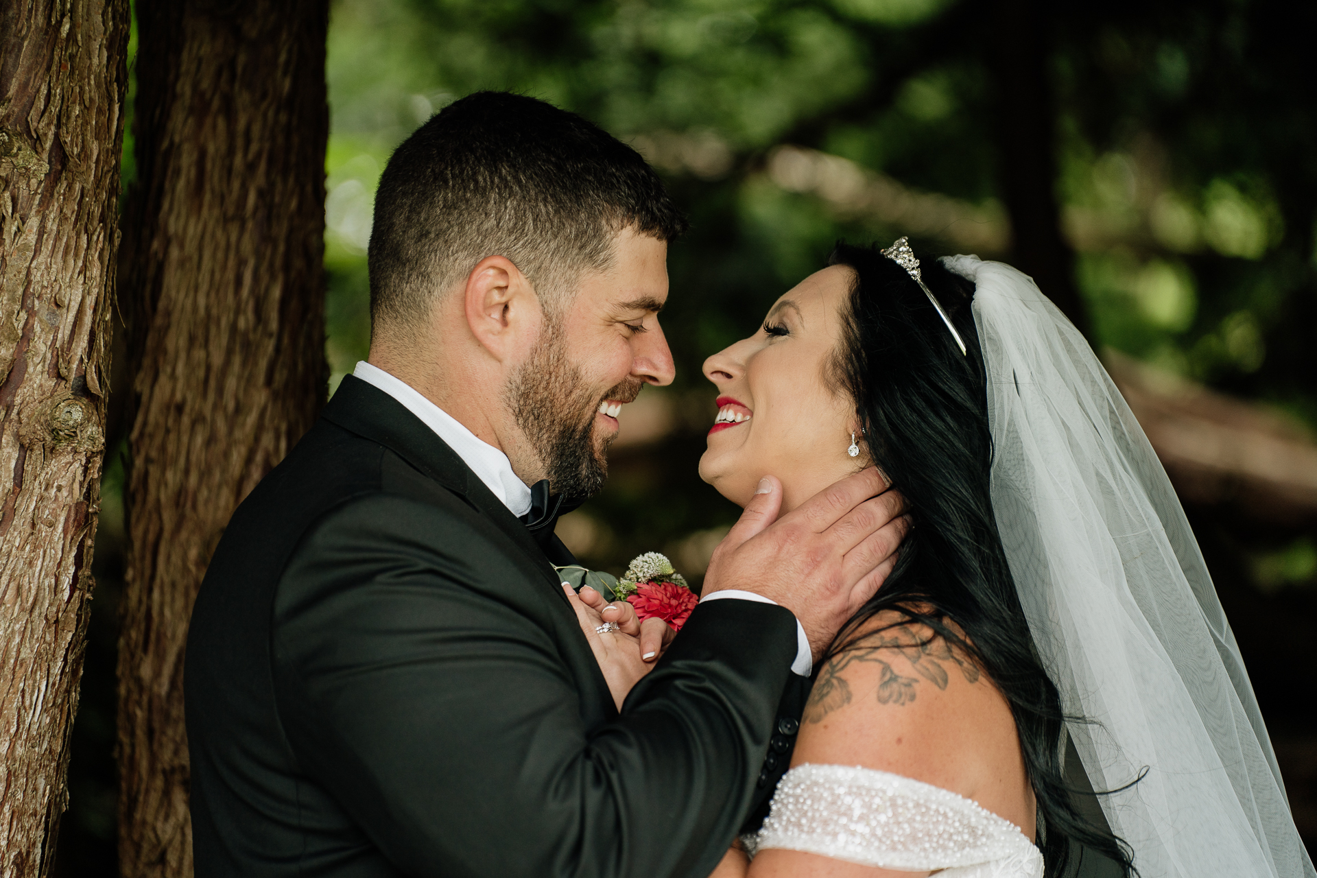
M640 387L641 382L632 378L602 396L593 394L581 369L568 359L557 326L544 324L535 349L504 392L554 494L598 494L608 475L607 450L614 437L595 432L594 415L606 399L630 403Z

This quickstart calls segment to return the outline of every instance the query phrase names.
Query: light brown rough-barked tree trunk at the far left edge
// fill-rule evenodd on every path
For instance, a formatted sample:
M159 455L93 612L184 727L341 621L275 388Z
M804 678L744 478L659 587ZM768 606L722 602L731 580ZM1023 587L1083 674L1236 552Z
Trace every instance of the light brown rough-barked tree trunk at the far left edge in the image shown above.
M128 0L0 4L0 875L67 803L109 371Z

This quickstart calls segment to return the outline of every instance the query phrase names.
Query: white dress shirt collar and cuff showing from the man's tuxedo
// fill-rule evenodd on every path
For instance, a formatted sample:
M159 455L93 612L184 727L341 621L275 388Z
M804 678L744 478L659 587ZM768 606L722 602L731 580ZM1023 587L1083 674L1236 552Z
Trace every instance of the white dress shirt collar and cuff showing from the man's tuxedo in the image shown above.
M520 517L531 511L531 488L512 471L512 462L507 459L507 454L481 440L456 417L425 399L411 384L394 378L383 369L361 361L352 370L352 374L396 399L408 412L419 417L425 426L435 430L439 438L444 440L444 444L453 449L457 457L462 458L462 462L471 469L471 473L485 483L490 494L511 509L512 515ZM739 588L715 591L699 600L703 603L719 598L755 600L761 604L777 606L777 602L770 598ZM801 677L809 677L814 666L814 658L810 654L810 641L805 636L805 627L801 625L799 620L795 620L795 661L792 662L792 670Z

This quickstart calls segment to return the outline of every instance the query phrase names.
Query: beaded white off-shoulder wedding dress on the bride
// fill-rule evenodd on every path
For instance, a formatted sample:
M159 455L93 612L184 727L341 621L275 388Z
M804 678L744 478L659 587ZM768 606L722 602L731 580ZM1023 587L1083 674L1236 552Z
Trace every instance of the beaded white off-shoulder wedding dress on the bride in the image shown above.
M803 850L939 878L1042 878L1043 856L1005 817L922 781L847 765L798 765L773 796L756 850Z

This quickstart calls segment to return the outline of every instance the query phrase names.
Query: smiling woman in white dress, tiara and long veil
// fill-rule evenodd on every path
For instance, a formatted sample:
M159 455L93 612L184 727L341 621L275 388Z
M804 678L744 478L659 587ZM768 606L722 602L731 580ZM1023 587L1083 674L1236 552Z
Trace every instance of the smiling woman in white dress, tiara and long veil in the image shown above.
M773 474L786 512L876 465L914 520L714 878L1051 878L1080 845L1143 878L1317 875L1171 484L1030 278L839 245L705 374L720 494Z

